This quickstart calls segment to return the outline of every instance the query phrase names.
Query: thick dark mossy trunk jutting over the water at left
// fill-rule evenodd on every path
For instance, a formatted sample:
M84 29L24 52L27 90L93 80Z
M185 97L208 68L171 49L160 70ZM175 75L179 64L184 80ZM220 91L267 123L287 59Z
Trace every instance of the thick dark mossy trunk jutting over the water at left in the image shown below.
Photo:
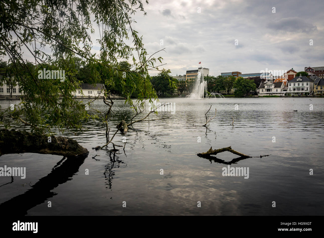
M75 140L18 130L0 130L0 156L12 153L55 154L70 157L85 157L89 151Z

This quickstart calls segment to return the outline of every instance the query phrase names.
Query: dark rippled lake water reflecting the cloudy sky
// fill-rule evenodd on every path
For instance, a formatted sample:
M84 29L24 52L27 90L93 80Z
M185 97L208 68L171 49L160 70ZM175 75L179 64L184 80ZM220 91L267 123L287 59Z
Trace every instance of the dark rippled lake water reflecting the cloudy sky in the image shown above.
M117 133L114 142L123 145L124 140L126 145L125 153L121 149L115 157L92 149L106 142L100 120L88 121L83 133L64 133L88 149L84 161L33 153L1 156L0 167L26 167L26 178L11 182L11 177L0 177L0 209L10 204L32 216L324 214L324 98L160 102L172 103L174 113L152 113L151 120L166 119L135 123L129 132ZM0 104L4 107L8 101ZM202 125L211 105L208 117L214 117L215 108L217 113L206 128ZM93 107L103 113L108 109L102 100ZM129 122L134 115L122 100L112 109L116 115L109 121L111 135L116 123L126 116ZM215 160L197 156L210 147L228 146L254 157L233 164L238 156L229 152L217 154ZM249 178L223 176L228 165L249 168Z

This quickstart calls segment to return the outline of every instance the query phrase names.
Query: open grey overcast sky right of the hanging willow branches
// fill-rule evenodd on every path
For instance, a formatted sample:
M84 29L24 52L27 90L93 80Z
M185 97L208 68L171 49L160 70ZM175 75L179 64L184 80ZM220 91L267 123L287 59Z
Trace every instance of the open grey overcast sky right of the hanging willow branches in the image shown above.
M149 53L166 48L159 55L172 75L198 66L214 76L266 68L303 71L324 66L323 6L323 0L149 0L147 15L137 12L133 28Z

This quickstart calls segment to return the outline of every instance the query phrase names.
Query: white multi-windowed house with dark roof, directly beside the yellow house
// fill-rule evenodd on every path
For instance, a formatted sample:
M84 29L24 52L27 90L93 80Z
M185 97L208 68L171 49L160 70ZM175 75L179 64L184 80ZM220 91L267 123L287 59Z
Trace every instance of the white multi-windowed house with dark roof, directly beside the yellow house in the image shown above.
M288 82L288 94L290 95L305 95L306 93L312 94L314 86L314 79L306 76L299 76L293 78Z

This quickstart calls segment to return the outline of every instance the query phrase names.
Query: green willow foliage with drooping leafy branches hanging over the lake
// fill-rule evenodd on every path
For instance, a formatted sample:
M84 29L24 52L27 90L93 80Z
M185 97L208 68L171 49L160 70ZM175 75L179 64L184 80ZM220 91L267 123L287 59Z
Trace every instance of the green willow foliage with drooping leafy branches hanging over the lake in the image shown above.
M38 133L82 129L90 115L84 102L73 100L82 83L76 58L87 65L92 84L114 85L118 77L128 95L125 103L132 104L135 89L140 105L156 98L148 70L157 69L162 58L149 57L133 29L136 11L146 14L141 0L2 0L0 57L14 65L23 100L1 108L1 122L7 126L14 119ZM95 44L98 54L92 52ZM131 61L133 70L121 69L118 59ZM64 70L65 79L42 79L39 69ZM135 82L134 73L140 80Z

